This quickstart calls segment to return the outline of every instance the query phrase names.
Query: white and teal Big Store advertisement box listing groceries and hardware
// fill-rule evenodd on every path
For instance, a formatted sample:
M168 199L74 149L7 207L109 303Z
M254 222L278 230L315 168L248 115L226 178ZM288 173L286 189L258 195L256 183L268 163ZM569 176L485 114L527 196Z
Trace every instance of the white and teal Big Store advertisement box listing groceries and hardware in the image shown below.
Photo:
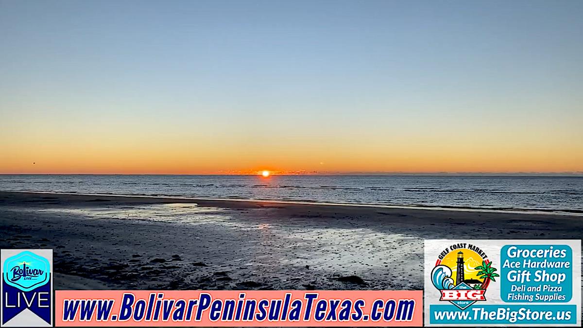
M426 240L426 326L581 326L581 240Z

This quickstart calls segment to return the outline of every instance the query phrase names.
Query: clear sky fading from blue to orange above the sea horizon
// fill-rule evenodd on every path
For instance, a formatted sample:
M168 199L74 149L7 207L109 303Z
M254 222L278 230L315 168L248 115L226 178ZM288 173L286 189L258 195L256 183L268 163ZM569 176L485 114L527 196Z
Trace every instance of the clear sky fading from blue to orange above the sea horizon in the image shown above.
M582 17L0 0L0 173L581 172Z

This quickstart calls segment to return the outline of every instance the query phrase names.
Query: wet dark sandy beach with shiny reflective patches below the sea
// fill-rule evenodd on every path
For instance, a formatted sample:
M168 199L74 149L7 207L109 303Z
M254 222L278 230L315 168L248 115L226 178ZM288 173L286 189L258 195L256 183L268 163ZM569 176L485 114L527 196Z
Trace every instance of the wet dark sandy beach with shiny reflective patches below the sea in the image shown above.
M423 239L581 239L580 216L0 191L55 289L422 289Z

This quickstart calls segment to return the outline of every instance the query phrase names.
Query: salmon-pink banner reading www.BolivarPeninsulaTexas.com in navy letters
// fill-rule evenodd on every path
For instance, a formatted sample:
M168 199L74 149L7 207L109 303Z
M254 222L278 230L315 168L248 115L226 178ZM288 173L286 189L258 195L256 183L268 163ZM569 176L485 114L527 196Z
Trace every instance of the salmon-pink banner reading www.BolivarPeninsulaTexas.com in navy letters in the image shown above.
M422 326L422 291L56 291L55 326Z

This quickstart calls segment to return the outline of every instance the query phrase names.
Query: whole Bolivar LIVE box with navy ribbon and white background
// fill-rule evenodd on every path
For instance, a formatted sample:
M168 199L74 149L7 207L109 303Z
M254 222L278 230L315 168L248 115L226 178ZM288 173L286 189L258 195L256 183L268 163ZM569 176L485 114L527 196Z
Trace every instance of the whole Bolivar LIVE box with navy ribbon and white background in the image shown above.
M3 249L2 327L52 326L52 250Z

